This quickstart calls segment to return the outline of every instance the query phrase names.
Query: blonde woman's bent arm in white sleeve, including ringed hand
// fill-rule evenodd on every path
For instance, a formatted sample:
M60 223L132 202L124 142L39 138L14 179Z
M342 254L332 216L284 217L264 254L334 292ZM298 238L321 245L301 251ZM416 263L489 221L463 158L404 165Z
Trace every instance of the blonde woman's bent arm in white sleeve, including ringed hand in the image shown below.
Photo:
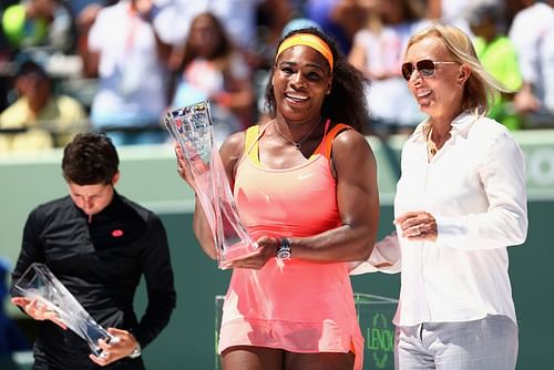
M394 223L409 240L430 240L461 249L494 249L520 245L527 233L527 198L523 153L502 133L489 144L479 171L489 207L462 216L409 212Z

